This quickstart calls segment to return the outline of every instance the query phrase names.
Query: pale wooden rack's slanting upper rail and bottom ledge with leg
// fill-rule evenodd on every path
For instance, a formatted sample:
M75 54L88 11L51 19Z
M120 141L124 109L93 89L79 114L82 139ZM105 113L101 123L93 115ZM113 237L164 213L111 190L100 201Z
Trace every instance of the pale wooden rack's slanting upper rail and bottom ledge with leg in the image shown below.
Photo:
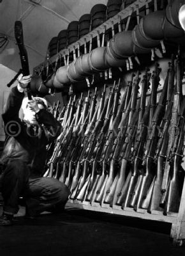
M83 36L75 42L74 44L71 44L68 46L68 49L63 49L58 54L61 55L67 55L68 52L72 52L73 49L78 49L79 45L84 45L84 42L90 42L92 38L96 38L98 33L101 34L103 31L107 29L112 28L115 24L118 24L121 20L127 19L130 15L130 13L136 12L137 10L141 10L144 8L146 4L156 4L156 0L138 0L135 1L135 3L131 4L121 12L119 12L117 15L112 17L112 19L107 20L101 26L91 31L89 34ZM57 55L58 55L57 54ZM56 61L56 56L53 56L50 58L50 63L53 63ZM36 74L41 70L41 68L45 67L47 61L44 61L43 63L40 63L37 67L34 68L33 73ZM90 203L90 202L80 202L78 200L68 200L67 206L69 207L77 207L80 209L85 209L89 211L97 211L97 212L107 212L110 214L119 214L122 216L129 216L134 217L138 219L144 219L144 220L154 220L154 221L162 221L166 223L171 223L172 228L170 232L170 237L173 239L174 244L181 246L185 241L185 180L184 185L182 189L182 196L181 196L181 204L179 207L179 212L171 212L168 214L168 216L165 216L163 212L161 211L152 211L151 213L147 212L145 209L137 209L135 211L131 207L126 207L125 209L122 209L121 206L114 205L113 207L110 207L108 204L99 204L99 203Z

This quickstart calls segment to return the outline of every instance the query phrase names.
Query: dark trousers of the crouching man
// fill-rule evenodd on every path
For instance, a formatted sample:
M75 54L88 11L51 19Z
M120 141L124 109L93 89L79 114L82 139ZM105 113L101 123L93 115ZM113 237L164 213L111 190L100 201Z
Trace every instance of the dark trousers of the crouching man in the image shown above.
M47 177L30 177L29 168L20 160L13 160L1 175L4 212L16 214L18 200L24 196L30 215L39 214L53 205L66 204L70 190L65 184Z

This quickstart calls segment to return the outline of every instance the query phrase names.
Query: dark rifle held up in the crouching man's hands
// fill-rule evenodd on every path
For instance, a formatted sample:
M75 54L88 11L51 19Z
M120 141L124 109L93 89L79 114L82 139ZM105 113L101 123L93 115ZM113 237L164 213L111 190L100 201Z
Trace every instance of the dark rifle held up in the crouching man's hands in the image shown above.
M22 22L20 20L15 21L15 26L14 26L14 33L15 33L15 39L18 45L18 49L20 52L20 61L22 65L22 73L23 76L29 76L29 62L28 62L28 57L27 57L27 51L24 46L24 36L23 36L23 28L22 28ZM27 84L27 97L29 100L32 99L31 97L31 87L30 83Z

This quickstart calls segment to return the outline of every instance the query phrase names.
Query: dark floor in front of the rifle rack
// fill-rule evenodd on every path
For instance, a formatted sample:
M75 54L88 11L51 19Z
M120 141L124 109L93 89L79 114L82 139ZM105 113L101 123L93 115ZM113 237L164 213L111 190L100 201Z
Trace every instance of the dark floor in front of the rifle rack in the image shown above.
M170 225L66 208L61 214L24 219L0 227L0 256L181 256L185 247L169 239Z

